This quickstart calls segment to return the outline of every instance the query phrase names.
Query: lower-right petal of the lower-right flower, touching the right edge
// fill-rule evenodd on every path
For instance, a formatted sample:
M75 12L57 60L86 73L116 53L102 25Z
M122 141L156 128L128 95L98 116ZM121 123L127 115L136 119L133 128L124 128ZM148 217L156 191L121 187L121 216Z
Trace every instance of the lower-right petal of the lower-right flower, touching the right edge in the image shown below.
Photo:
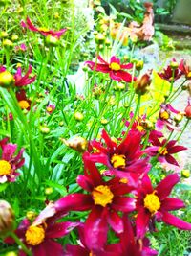
M182 221L180 218L178 218L168 212L163 213L162 221L164 221L165 223L167 223L169 225L176 226L183 230L191 230L191 223Z

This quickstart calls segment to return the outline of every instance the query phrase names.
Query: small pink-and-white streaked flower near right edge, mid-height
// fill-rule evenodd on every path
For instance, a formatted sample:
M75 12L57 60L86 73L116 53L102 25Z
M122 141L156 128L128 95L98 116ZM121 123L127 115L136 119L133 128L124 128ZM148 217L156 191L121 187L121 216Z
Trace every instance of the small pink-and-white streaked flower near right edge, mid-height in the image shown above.
M159 119L156 122L156 127L161 130L162 128L166 127L169 130L179 130L180 128L177 127L177 122L174 122L174 117L181 115L179 110L176 110L170 104L161 104L159 110Z

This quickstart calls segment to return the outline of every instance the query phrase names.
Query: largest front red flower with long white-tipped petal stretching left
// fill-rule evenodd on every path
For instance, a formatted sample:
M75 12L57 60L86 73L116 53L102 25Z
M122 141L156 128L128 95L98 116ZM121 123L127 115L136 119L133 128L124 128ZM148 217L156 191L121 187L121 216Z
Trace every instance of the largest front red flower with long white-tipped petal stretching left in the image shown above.
M54 213L62 215L68 211L91 210L84 223L85 243L90 250L101 250L107 241L108 224L117 232L123 232L123 223L118 212L131 212L135 209L135 199L126 196L132 187L126 180L113 178L104 181L96 165L85 161L85 175L78 175L77 183L88 194L71 194L50 204L40 218Z

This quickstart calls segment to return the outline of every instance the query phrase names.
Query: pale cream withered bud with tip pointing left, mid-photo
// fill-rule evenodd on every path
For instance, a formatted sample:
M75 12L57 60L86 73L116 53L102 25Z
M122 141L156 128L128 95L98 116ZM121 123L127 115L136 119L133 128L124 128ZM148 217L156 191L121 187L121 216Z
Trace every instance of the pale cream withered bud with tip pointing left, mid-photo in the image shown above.
M84 152L87 150L88 142L86 139L76 136L69 140L61 139L61 141L68 147L72 148L74 151Z

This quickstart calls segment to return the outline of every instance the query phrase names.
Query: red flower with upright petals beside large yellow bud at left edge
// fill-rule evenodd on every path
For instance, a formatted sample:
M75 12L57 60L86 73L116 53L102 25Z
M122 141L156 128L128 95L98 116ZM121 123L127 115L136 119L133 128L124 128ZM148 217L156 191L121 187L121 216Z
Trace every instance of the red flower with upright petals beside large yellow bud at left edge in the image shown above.
M36 76L33 76L30 78L30 75L32 73L32 66L29 66L29 69L25 76L22 77L22 68L18 67L16 73L14 74L14 80L15 80L15 86L21 87L28 84L31 84L33 81L35 81Z

